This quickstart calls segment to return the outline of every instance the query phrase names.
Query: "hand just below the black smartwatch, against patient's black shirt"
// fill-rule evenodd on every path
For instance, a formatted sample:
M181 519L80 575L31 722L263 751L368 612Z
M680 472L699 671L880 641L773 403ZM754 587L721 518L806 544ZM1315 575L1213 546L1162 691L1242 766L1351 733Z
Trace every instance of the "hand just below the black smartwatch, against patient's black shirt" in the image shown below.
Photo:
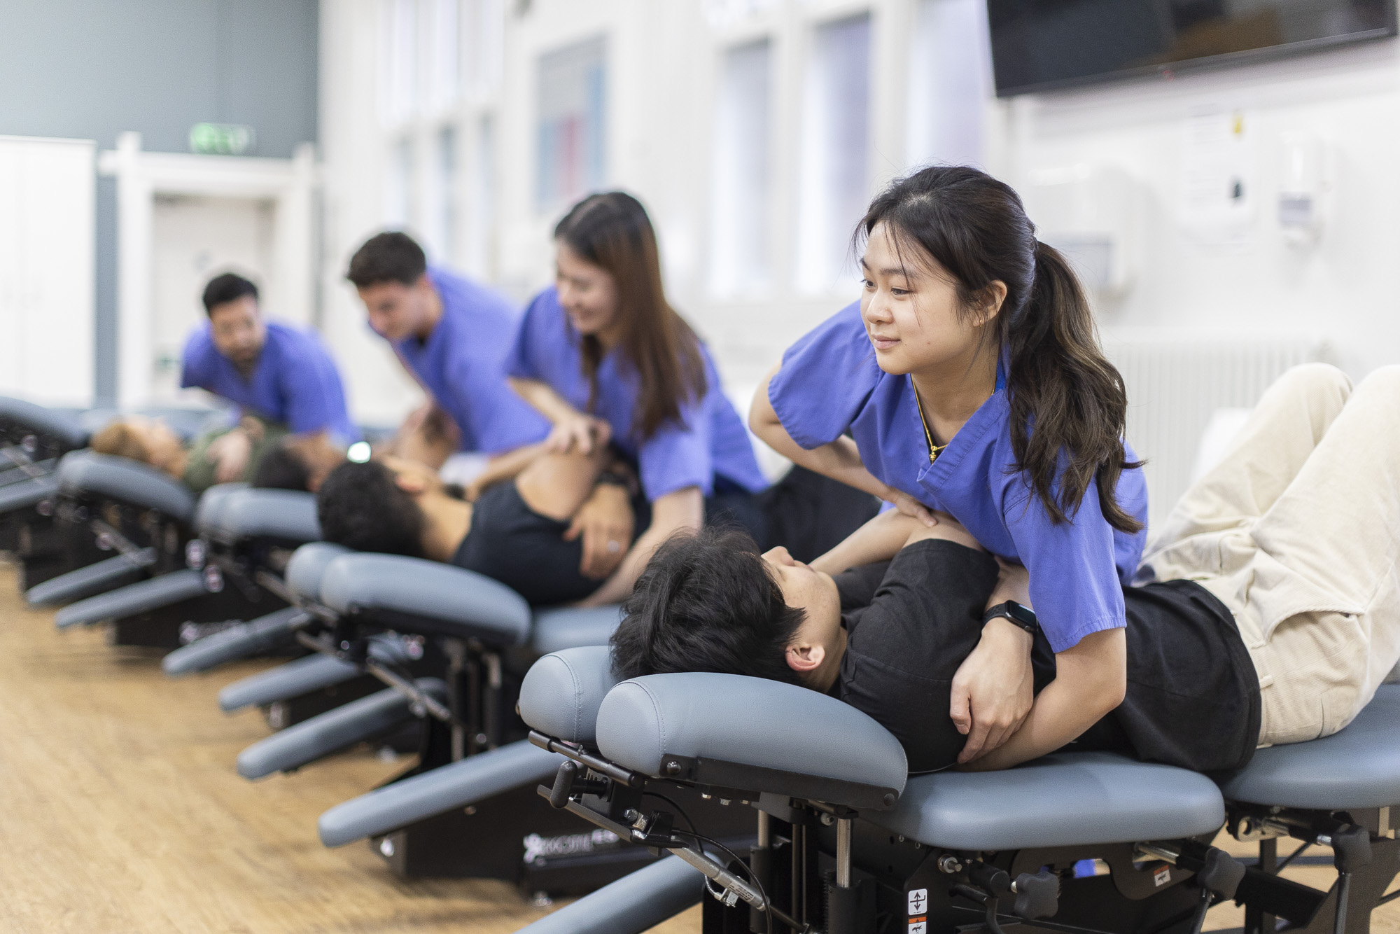
M1009 739L1033 703L1030 633L1007 619L990 620L953 675L948 713L958 731L967 735L958 762L972 762Z

